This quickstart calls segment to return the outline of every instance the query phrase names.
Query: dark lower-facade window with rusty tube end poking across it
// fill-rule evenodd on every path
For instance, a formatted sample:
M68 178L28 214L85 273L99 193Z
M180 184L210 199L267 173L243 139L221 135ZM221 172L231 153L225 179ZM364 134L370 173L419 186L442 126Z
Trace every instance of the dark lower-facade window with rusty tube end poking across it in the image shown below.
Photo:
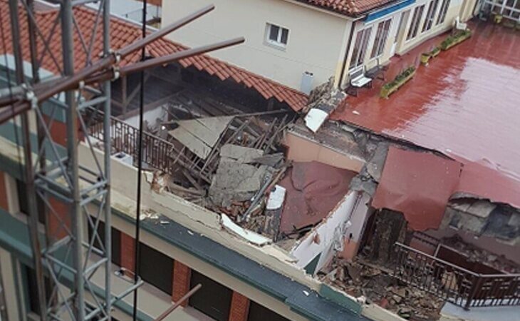
M191 287L193 288L197 284L201 284L202 288L189 297L189 305L212 317L214 320L228 321L233 291L219 282L192 270Z

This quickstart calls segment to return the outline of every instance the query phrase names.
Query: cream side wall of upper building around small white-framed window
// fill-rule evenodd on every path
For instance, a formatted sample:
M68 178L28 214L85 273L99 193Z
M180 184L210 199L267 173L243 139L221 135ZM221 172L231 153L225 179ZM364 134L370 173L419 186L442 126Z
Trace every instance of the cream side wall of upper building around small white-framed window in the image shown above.
M208 4L216 9L170 34L170 39L192 47L244 36L245 44L211 56L298 90L303 72L313 73L314 87L328 81L343 63L350 21L291 1L163 0L162 24ZM267 23L289 29L285 49L266 43Z

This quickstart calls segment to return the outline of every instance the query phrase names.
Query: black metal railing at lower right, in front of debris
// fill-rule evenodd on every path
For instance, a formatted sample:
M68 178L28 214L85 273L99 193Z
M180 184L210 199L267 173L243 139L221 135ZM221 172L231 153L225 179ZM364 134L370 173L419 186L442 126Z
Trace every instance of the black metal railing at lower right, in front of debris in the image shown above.
M520 305L520 274L482 275L401 243L395 250L394 277L454 305Z

